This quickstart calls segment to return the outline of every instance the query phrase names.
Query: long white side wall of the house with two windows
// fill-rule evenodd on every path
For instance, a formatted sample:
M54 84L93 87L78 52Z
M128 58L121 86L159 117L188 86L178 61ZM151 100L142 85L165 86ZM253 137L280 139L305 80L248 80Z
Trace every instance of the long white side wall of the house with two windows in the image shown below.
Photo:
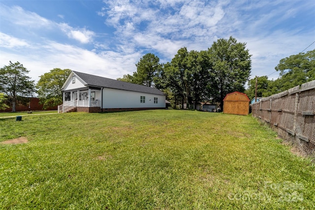
M145 96L145 103L140 103L140 96ZM154 103L154 97L158 103ZM161 108L165 107L165 95L133 92L104 88L103 108Z

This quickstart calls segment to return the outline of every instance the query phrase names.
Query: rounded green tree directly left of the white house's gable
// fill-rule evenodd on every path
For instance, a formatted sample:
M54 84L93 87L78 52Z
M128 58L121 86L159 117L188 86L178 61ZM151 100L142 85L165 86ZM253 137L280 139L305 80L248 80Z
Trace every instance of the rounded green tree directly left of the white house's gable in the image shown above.
M39 76L40 79L37 82L36 88L39 102L43 104L44 109L63 103L61 88L70 73L70 69L54 68L50 72Z

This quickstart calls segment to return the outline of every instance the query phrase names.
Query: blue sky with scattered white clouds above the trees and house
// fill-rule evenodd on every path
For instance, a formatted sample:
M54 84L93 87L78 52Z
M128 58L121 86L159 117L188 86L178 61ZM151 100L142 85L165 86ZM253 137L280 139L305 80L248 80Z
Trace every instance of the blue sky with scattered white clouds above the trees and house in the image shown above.
M36 82L53 68L116 79L147 53L165 63L229 36L247 43L251 78L276 79L315 41L315 1L0 0L0 67L19 61Z

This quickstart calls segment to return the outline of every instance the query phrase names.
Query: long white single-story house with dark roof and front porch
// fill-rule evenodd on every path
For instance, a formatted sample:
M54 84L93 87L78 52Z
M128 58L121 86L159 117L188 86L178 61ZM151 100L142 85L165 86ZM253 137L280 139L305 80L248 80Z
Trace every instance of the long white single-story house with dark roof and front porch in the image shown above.
M165 94L156 88L72 71L62 87L58 112L109 112L165 109Z

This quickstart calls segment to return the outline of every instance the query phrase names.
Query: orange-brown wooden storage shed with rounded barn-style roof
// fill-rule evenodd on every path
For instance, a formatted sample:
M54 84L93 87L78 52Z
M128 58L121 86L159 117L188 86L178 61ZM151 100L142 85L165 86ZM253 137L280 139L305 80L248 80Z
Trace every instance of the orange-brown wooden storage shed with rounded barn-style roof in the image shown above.
M248 115L250 111L250 99L245 93L232 92L226 94L223 99L223 113L235 115Z

